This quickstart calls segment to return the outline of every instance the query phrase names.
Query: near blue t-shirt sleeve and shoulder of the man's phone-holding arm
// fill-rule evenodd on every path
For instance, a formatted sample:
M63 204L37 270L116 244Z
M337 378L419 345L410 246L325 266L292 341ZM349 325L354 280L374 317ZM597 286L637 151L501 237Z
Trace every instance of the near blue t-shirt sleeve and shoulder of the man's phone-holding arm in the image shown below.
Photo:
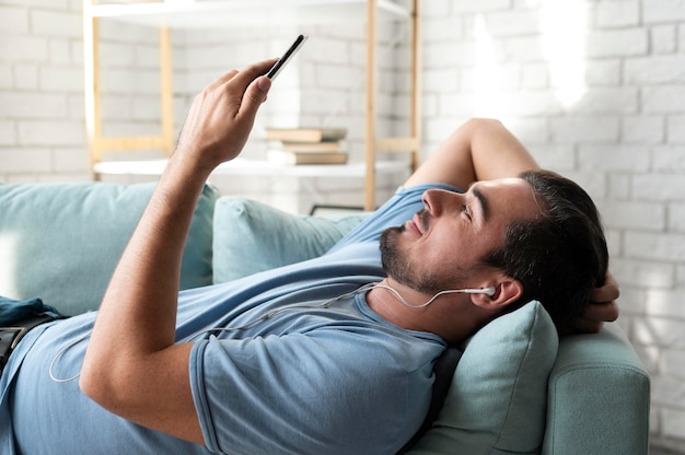
M396 452L423 419L432 366L407 372L384 342L363 354L345 330L199 342L190 381L208 448Z

